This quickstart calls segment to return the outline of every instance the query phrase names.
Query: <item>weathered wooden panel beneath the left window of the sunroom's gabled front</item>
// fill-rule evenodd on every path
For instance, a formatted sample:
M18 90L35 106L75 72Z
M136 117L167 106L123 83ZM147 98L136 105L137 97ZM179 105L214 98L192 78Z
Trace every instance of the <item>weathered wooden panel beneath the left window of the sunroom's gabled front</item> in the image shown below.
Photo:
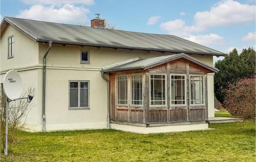
M150 123L167 122L167 110L150 110Z

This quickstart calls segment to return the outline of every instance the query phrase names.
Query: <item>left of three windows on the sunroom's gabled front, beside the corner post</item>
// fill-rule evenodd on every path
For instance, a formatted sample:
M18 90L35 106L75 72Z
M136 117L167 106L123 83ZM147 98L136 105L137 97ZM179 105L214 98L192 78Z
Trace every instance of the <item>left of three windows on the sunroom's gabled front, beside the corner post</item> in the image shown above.
M150 106L166 106L166 74L150 74Z

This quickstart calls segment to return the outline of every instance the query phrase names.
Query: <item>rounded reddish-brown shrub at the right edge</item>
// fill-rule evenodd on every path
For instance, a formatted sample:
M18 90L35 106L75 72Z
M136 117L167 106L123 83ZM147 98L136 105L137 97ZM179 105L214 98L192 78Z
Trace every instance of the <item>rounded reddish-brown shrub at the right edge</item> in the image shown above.
M255 77L229 84L225 93L224 107L231 115L255 119Z

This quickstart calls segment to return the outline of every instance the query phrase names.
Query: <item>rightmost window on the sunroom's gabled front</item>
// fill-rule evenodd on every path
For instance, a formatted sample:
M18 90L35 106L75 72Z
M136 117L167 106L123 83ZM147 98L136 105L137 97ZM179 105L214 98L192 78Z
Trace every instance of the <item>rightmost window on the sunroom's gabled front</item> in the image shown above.
M190 80L190 104L204 105L204 76L189 75Z

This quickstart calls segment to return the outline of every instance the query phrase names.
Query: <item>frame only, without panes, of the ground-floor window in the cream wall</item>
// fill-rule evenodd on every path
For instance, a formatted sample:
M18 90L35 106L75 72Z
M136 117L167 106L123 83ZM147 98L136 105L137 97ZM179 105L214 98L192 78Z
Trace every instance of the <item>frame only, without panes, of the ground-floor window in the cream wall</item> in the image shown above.
M78 101L77 101L77 107L70 107L70 89L76 89L76 88L70 88L70 82L78 82ZM80 107L80 83L81 82L87 82L88 83L88 106L86 107ZM86 88L82 88L86 89ZM90 109L90 81L89 80L69 80L69 110L82 110L82 109Z

